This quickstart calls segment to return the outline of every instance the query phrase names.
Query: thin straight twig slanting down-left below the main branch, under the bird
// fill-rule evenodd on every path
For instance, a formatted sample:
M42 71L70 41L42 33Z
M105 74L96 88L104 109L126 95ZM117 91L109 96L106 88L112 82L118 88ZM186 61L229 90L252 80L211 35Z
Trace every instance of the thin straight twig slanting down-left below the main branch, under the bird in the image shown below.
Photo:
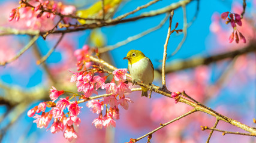
M188 111L188 113L185 113L185 114L183 114L182 116L179 116L179 117L177 117L177 118L171 120L170 122L167 122L167 123L164 123L164 124L160 124L161 126L159 126L158 128L152 130L152 131L149 132L149 133L146 133L146 134L143 135L143 136L140 136L140 138L135 139L135 142L139 141L140 139L145 138L145 137L148 136L148 135L152 135L152 134L153 134L154 132L156 132L157 130L162 129L162 128L164 128L165 126L169 125L170 123L173 123L173 122L175 122L176 120L182 119L183 117L186 117L186 116L188 116L189 114L192 114L192 113L194 113L194 112L196 112L196 111L197 111L197 110L196 110L195 108L193 108L191 111Z

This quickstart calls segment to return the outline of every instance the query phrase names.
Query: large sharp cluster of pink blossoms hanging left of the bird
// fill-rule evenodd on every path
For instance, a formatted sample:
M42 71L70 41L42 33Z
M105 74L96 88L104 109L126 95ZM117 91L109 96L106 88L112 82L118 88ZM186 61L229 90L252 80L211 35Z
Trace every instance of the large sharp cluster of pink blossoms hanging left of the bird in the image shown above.
M104 74L95 68L72 73L70 81L76 83L77 92L82 93L81 95L73 93L66 98L60 98L59 96L71 92L58 91L52 86L50 89L51 101L41 102L28 111L28 116L34 116L34 123L37 123L38 128L47 128L53 119L49 128L50 131L52 133L62 131L64 137L72 141L77 138L74 126L79 126L81 122L78 116L82 106L79 104L88 101L86 106L90 108L92 113L98 114L98 117L92 122L96 128L115 127L115 120L119 119L118 106L120 105L127 110L128 102L132 102L124 95L125 92L131 92L129 85L125 83L127 69L113 71L113 79L110 83L105 83L107 76L99 76ZM106 89L107 94L96 100L92 95L98 94L98 89ZM72 98L75 98L75 101L72 101ZM106 111L104 111L105 106ZM50 108L50 111L46 111L47 107Z

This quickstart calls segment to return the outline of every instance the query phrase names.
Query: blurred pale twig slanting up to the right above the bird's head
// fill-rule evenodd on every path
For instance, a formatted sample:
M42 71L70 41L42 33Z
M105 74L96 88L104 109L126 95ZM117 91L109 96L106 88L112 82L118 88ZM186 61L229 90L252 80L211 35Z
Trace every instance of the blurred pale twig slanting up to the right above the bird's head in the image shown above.
M141 37L143 37L143 36L153 32L155 30L161 28L164 25L165 21L168 19L168 17L169 17L169 15L167 14L167 16L165 16L164 19L161 21L161 23L159 23L159 25L156 26L156 27L153 27L151 29L147 29L146 31L144 31L142 33L139 33L137 35L130 36L127 39L125 39L124 41L118 42L115 45L105 46L103 48L100 48L99 49L99 53L103 53L103 52L107 52L107 51L111 51L113 49L119 48L120 46L123 46L123 45L125 45L125 44L127 44L129 42L135 41L135 40L137 40L137 39L139 39L139 38L141 38Z

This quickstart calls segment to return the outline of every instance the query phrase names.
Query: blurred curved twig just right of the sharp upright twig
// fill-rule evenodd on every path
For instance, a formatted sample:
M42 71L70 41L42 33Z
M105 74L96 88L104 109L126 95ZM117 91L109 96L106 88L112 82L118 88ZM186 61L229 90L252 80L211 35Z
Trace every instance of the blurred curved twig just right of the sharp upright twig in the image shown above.
M181 48L183 43L186 41L186 35L187 35L186 30L188 28L188 23L186 21L186 6L185 5L182 6L182 10L183 10L183 30L182 30L183 38L182 38L182 41L177 46L177 48L175 49L175 51L170 56L175 55L179 51L179 49ZM167 58L169 58L169 56Z

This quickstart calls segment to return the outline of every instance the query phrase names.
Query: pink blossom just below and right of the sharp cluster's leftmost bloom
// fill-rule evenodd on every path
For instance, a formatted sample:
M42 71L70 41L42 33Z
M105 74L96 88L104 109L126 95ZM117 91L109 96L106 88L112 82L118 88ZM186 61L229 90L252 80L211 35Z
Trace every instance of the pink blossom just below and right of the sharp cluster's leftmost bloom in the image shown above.
M49 113L42 113L41 115L35 114L35 120L33 123L37 123L37 128L47 128L52 119L52 116Z

